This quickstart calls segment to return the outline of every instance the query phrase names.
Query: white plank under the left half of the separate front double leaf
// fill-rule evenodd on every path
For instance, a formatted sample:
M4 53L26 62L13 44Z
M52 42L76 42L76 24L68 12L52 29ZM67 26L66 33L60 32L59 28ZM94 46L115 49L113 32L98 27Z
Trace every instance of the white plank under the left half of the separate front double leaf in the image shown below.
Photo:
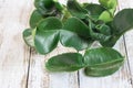
M78 75L75 73L49 73L44 63L52 56L75 52L70 48L64 48L61 45L57 47L52 53L42 56L32 52L29 74L29 88L79 88Z

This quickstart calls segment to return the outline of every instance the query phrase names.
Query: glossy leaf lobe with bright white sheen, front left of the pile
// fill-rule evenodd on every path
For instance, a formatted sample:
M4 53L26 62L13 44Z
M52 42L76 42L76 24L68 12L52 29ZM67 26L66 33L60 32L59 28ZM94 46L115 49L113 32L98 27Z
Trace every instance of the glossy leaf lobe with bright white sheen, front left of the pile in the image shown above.
M51 30L41 32L37 30L34 44L40 54L48 54L53 51L59 42L59 31Z

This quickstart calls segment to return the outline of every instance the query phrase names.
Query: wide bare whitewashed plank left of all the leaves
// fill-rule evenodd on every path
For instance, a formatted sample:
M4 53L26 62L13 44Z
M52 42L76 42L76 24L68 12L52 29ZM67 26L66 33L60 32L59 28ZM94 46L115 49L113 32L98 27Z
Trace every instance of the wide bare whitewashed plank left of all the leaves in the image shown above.
M22 40L31 0L0 0L0 88L25 88L29 50Z

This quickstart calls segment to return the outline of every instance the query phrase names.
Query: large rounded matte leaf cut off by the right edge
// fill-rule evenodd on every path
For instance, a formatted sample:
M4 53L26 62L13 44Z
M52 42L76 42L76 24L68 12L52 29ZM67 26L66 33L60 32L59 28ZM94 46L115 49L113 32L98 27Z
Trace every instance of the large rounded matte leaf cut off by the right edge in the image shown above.
M120 11L113 20L113 33L122 35L133 28L133 9L124 9Z

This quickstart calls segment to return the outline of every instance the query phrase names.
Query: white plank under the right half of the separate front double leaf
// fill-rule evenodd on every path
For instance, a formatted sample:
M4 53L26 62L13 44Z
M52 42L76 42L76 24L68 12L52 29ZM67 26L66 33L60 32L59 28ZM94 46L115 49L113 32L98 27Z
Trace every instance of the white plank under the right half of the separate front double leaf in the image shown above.
M98 3L98 0L92 0L92 2ZM123 2L124 2L124 0L123 0ZM126 0L126 2L127 2L127 0ZM117 44L114 47L117 51L120 51L124 56L126 56L123 37L120 38L120 41L117 42ZM108 77L103 77L103 78L86 77L83 75L83 70L81 70L80 72L80 88L86 88L86 87L91 87L91 88L132 88L127 62L125 62L125 65L117 73L115 73L112 76L108 76Z

